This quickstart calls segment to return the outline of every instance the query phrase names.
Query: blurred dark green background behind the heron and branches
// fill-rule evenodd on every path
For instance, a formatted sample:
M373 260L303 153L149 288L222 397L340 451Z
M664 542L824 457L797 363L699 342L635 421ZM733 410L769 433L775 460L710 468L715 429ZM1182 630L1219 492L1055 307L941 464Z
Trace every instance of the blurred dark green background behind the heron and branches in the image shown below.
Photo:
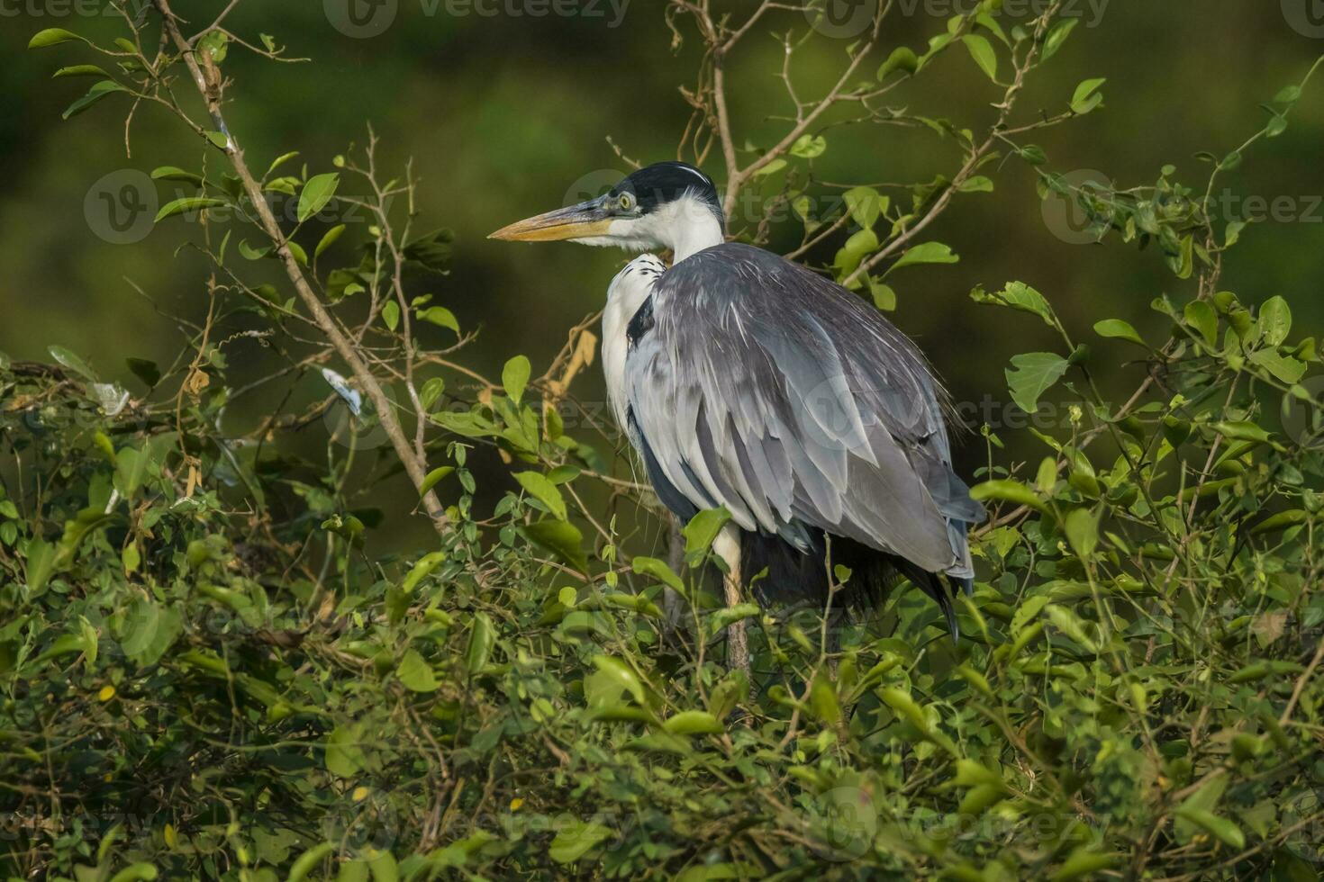
M1152 184L1160 167L1173 163L1178 180L1202 186L1207 165L1194 153L1222 156L1241 144L1264 119L1259 104L1299 81L1324 53L1324 38L1300 26L1304 19L1292 12L1294 0L1100 3L1072 0L1080 26L1031 81L1017 108L1019 122L1041 110L1058 112L1079 81L1107 77L1104 108L1033 136L1047 151L1049 168L1059 172L1096 169L1133 186ZM692 24L678 20L686 40L675 46L658 0L633 0L620 16L606 0L561 7L577 9L575 16L535 16L548 7L523 0L490 0L483 9L496 15L479 15L455 0L399 0L380 34L351 37L334 24L338 4L343 12L343 0L248 0L228 20L236 33L254 41L258 33L270 33L291 56L311 58L285 65L232 49L225 62L233 79L228 114L250 164L262 169L271 157L298 149L312 173L330 171L332 156L351 141L363 143L371 122L383 141L383 165L414 160L421 179L417 229L455 231L453 268L436 294L466 329L483 329L463 358L495 373L508 356L523 352L535 374L542 373L564 344L565 331L601 305L624 255L575 245L514 246L485 237L510 221L560 206L587 173L625 169L608 136L641 161L677 156L690 115L678 87L692 85L698 63ZM179 0L176 12L200 25L222 5ZM888 48L922 48L944 26L945 15L931 13L953 8L943 0L899 7L890 19ZM61 120L61 111L91 81L53 81L50 74L61 65L93 61L91 53L77 44L28 52L28 38L50 26L107 41L122 32L114 19L71 15L74 8L74 0L0 0L5 58L0 350L41 360L49 344L62 344L105 377L140 390L132 386L124 357L168 364L180 349L177 328L160 311L197 317L204 309L207 267L196 254L179 250L199 229L176 221L139 242L117 245L98 235L105 225L95 218L95 200L90 209L85 201L98 180L119 169L167 164L197 169L204 148L162 110L144 107L132 124L132 157L126 157L127 103L120 97ZM745 15L752 4L731 8ZM1018 20L1023 19L1002 17L1008 26ZM728 62L737 143L768 144L784 131L782 123L769 119L788 110L776 77L781 44L769 32L802 32L806 21L785 12L771 16L767 25L755 29ZM793 71L802 97L821 94L830 83L847 45L816 37L805 46ZM1006 65L1005 54L1002 61ZM888 103L980 130L993 118L990 102L1000 95L957 49L892 93ZM951 175L960 164L951 139L939 140L927 130L846 126L833 128L828 139L828 151L814 160L814 175L824 181L912 182ZM1288 131L1260 144L1226 179L1238 198L1258 196L1271 204L1287 197L1291 204L1276 220L1247 230L1225 286L1247 303L1287 296L1301 328L1320 327L1324 319L1321 147L1324 78L1307 91ZM711 157L707 171L720 179ZM1091 340L1090 325L1108 315L1131 320L1143 333L1162 331L1151 300L1165 291L1185 295L1188 283L1170 274L1160 254L1115 239L1063 241L1061 223L1045 220L1030 168L1009 160L988 173L994 193L959 198L929 230L931 238L961 255L960 263L908 268L890 279L899 295L894 320L919 340L957 401L1006 401L1008 358L1055 344L1046 328L1023 316L970 303L967 295L976 284L1019 279L1035 286L1080 340ZM169 188L162 186L160 196L169 198ZM773 245L789 250L798 243L800 229L798 221L788 220L773 231ZM346 261L352 259L354 233L351 225L339 246ZM1070 231L1066 238L1072 238ZM812 254L810 262L830 262L838 243ZM1119 391L1139 376L1140 366L1123 365L1139 350L1094 342ZM236 344L229 352L232 365L242 369L250 357L254 372L260 369L262 352L256 342ZM584 382L584 397L600 394L596 370ZM308 391L320 394L324 389ZM249 417L236 414L234 430L246 428ZM982 458L982 442L967 439L960 452L964 467L973 468Z

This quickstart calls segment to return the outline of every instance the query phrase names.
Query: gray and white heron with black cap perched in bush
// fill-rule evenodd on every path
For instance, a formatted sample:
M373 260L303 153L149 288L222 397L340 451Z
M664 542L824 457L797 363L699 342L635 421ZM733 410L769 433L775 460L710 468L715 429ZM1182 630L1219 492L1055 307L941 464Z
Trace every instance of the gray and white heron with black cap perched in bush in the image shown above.
M608 397L667 509L682 522L730 512L712 546L728 604L752 588L765 606L838 592L841 607L870 606L906 579L957 637L952 600L973 591L968 532L984 508L952 467L943 385L873 304L727 242L716 185L686 163L491 238L649 251L606 291Z

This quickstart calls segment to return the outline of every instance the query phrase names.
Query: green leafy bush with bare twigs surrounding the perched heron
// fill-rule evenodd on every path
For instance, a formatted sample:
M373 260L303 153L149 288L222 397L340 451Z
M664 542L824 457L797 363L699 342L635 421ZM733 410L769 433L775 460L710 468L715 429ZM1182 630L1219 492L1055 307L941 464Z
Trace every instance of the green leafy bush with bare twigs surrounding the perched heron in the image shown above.
M1300 87L1211 159L1206 182L1164 169L1153 186L1076 193L1016 139L1098 108L1100 82L1055 118L1009 116L1070 34L1057 7L1013 33L981 7L916 56L883 52L884 5L842 79L878 50L876 82L841 94L873 99L964 45L1005 110L986 138L870 110L955 140L963 164L908 204L851 189L837 216L802 198L818 111L747 164L724 111L704 116L735 181L728 206L745 186L767 188L768 216L798 206L802 249L841 234L833 271L884 308L883 262L955 259L916 237L956 196L990 189L976 172L1004 155L1039 168L1046 196L1078 198L1100 238L1151 245L1174 272L1182 294L1155 300L1165 340L1104 317L1087 344L1026 283L974 292L1061 339L1013 360L1017 403L1033 411L1057 389L1072 406L1055 434L1026 431L1042 456L1029 471L985 427L976 493L993 516L953 644L916 591L862 620L724 607L704 566L722 512L678 530L667 559L636 553L622 502L655 502L608 473L610 436L564 418L592 362L588 325L542 377L516 356L489 380L422 342L420 324L459 328L422 294L449 235L414 234L385 198L412 196L410 180L380 181L375 141L338 172L289 171L290 156L250 172L222 115L226 32L185 38L168 4L154 8L163 38L126 19L115 77L95 73L75 108L122 91L193 127L204 171L155 177L195 190L160 221L200 222L211 307L184 325L179 364L130 362L146 395L60 348L50 366L0 356L11 875L1317 878L1320 358L1286 300L1221 290L1243 230L1207 196L1283 134ZM671 12L678 34L690 15L723 49L708 74L745 33L706 7ZM33 45L75 40L48 30ZM208 122L172 81L196 85ZM715 107L720 86L702 82L691 99ZM314 221L342 176L372 194L360 208L375 223L355 262L326 270L346 227ZM294 200L295 226L271 198ZM763 217L744 220L763 241ZM249 391L229 378L230 350L253 339L286 360L274 380L332 361L350 378L323 374L335 391L305 413L226 432ZM1137 358L1135 393L1104 395L1100 372ZM283 443L320 419L332 439L318 456ZM479 448L515 471L491 510L475 497ZM381 513L363 496L401 471L437 533L405 555L379 550ZM735 621L751 628L755 682L724 665Z

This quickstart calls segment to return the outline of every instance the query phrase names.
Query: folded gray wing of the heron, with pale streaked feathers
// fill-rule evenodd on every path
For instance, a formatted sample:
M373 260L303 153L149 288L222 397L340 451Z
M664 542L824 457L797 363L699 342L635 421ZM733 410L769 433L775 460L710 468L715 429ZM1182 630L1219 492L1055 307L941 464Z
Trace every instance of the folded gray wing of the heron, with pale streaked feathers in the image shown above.
M625 394L658 468L699 508L808 547L806 528L969 574L982 508L951 467L915 345L839 286L722 245L655 283Z

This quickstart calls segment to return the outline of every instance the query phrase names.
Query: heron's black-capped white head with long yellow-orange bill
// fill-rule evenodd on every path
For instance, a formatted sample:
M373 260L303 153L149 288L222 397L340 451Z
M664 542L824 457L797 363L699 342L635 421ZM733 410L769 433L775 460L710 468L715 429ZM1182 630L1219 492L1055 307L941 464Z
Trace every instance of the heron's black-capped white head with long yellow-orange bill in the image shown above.
M682 261L724 241L722 201L712 179L685 163L641 168L602 196L511 223L490 238L671 249Z

